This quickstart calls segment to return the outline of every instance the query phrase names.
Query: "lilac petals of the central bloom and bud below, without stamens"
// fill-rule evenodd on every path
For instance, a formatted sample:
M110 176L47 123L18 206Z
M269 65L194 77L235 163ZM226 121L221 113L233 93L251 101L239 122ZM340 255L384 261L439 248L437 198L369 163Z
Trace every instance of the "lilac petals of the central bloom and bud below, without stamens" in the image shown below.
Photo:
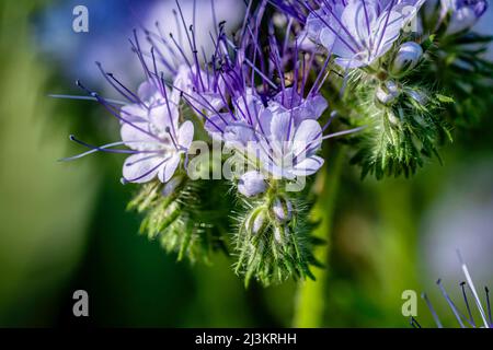
M241 176L241 194L252 197L263 192L268 177L295 179L322 166L323 159L316 155L322 143L317 119L328 107L322 96L301 98L286 89L264 105L261 96L249 90L233 105L234 112L213 116L205 127L255 167Z

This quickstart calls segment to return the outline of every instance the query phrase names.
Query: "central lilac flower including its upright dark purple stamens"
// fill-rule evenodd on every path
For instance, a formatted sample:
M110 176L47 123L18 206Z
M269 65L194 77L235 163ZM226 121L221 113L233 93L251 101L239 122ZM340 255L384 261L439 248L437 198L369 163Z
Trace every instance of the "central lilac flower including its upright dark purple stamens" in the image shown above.
M299 55L296 44L293 49L279 49L271 36L265 52L270 60L264 61L257 34L251 31L250 35L234 50L236 61L222 59L226 65L220 75L230 103L221 110L204 114L209 135L223 141L248 164L239 183L239 191L246 197L263 192L271 179L295 180L314 174L324 162L317 155L322 140L333 137L323 136L332 118L323 128L318 121L329 105L319 93L325 69L319 70L306 91L316 54ZM257 66L255 60L260 61ZM328 63L329 59L325 67ZM288 70L289 85L285 73Z

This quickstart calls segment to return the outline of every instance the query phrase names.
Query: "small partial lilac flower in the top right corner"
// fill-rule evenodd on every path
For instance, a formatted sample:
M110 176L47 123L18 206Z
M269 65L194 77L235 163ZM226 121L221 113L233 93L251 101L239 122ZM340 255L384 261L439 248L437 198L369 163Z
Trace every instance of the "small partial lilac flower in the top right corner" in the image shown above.
M488 9L485 0L442 0L444 15L450 19L447 34L456 34L471 28Z

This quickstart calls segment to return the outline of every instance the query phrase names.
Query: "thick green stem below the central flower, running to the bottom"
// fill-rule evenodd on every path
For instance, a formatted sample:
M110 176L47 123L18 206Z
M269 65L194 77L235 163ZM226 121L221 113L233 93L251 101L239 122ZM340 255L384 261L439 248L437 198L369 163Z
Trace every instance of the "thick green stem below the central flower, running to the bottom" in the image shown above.
M325 305L325 283L328 278L329 249L333 228L333 213L335 209L339 184L344 161L343 150L331 159L329 166L319 173L316 191L318 200L311 211L311 219L320 222L313 235L326 241L325 245L316 247L316 258L325 265L323 269L313 271L316 281L301 281L295 300L295 315L293 326L297 328L317 328L323 326L323 312ZM329 171L328 167L331 170Z

